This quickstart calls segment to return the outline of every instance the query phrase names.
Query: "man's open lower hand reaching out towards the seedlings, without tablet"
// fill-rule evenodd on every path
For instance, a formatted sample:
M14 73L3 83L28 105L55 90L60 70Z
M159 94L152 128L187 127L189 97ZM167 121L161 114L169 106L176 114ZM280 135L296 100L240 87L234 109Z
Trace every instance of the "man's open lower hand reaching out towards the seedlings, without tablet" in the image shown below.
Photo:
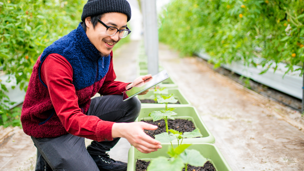
M162 148L161 143L147 135L143 130L156 130L157 126L145 122L114 123L112 137L123 137L142 153L151 153Z

